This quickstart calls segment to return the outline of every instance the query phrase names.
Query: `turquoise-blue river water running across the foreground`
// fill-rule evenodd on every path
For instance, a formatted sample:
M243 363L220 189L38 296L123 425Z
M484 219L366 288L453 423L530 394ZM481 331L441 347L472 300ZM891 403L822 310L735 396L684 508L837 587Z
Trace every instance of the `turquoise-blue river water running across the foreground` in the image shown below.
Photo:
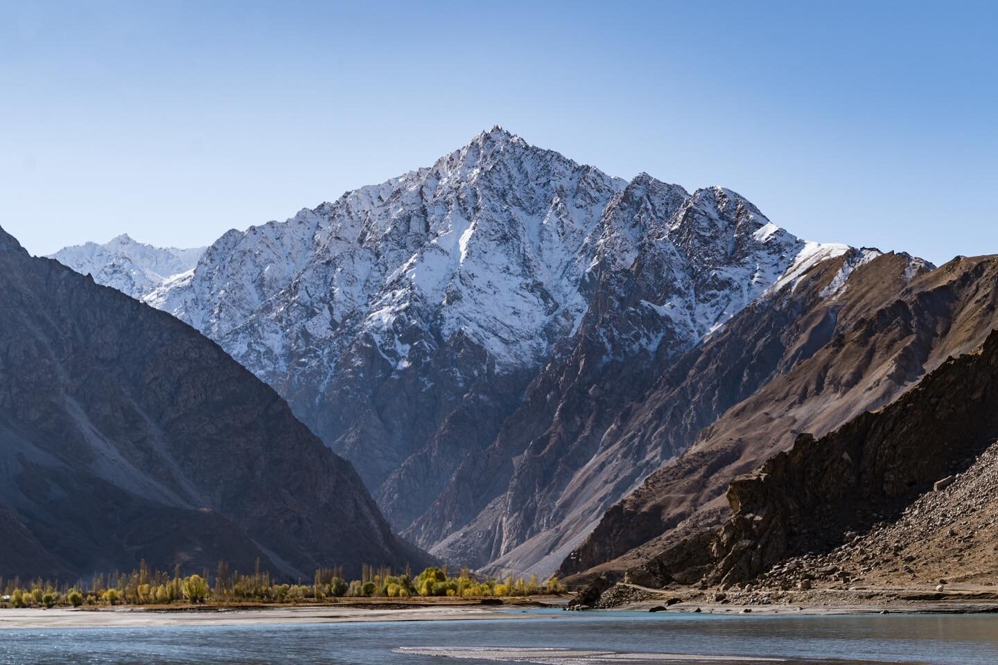
M461 650L467 647L561 647L642 654L778 657L792 663L998 663L996 615L719 616L557 610L530 613L536 618L3 630L0 663L479 665L503 660L494 654L488 659L456 659L394 651L399 647L447 647L453 655L465 657L474 655ZM513 657L515 654L509 658ZM539 662L536 658L528 654L527 660L521 662ZM579 656L558 662L585 665L620 662L620 659L593 660ZM634 665L650 661L627 662Z

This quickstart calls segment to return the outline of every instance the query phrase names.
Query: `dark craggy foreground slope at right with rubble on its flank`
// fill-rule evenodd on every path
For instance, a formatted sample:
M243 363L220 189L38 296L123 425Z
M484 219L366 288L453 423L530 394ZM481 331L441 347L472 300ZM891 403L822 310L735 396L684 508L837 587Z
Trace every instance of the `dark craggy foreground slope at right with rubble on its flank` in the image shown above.
M976 522L986 531L994 521L987 499L994 475L986 462L998 440L996 401L998 333L993 333L979 351L947 361L882 411L863 414L821 440L801 436L790 451L737 479L728 493L731 518L707 546L682 542L664 552L656 562L658 574L708 583L747 581L789 556L827 552L847 538L824 557L850 564L825 570L837 583L884 576L905 583L919 575L923 580L932 575L934 583L943 568L946 578L993 577L998 573L994 538L986 532L978 538L967 526ZM953 474L958 483L946 487ZM946 496L925 495L934 484ZM984 494L971 492L975 489ZM900 523L891 526L894 521ZM901 533L902 524L912 530ZM897 539L884 540L889 532ZM932 547L927 550L929 543L918 542L916 534L931 539ZM685 555L673 556L680 548ZM788 561L768 578L795 573L804 560L814 557Z

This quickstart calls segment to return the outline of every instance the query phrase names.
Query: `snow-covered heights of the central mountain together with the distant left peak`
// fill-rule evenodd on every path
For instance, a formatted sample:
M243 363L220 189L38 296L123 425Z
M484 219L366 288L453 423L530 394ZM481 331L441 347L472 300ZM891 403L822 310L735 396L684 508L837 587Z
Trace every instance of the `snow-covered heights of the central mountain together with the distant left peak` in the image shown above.
M847 249L798 240L730 189L690 194L647 173L629 183L495 127L433 166L207 249L123 235L55 257L172 312L275 383L294 381L292 364L335 371L359 337L396 366L458 331L499 366L543 363L587 311L586 285L650 251L672 283L648 311L689 344ZM432 334L406 342L413 328ZM659 332L640 346L654 351Z

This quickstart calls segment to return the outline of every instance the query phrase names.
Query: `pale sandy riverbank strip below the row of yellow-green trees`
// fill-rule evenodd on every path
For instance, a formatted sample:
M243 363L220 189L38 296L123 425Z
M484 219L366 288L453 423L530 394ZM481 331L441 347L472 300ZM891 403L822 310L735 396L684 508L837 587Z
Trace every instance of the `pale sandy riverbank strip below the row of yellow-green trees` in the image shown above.
M0 630L26 628L113 628L138 626L277 625L292 623L349 623L357 621L448 621L526 618L509 611L515 607L435 605L404 609L375 609L348 605L321 607L251 607L155 609L104 607L100 609L0 609ZM537 615L532 615L537 618Z

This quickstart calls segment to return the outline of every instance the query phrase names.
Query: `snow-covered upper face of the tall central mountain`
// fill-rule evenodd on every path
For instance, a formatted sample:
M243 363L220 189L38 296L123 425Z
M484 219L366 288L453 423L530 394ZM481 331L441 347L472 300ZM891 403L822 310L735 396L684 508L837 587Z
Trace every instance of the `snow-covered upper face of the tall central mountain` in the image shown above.
M659 181L641 173L631 184L640 188L651 182ZM248 363L253 371L269 366L285 372L282 356L328 339L361 315L379 350L396 364L412 349L401 337L415 321L439 327L445 339L461 331L501 365L538 364L584 313L588 303L579 284L594 268L599 248L627 244L630 253L614 259L618 267L634 255L636 229L624 229L631 237L617 242L615 229L603 219L611 198L627 186L496 126L434 166L347 192L286 222L230 231L206 253L203 268L163 284L147 301L216 337L245 325L257 328L253 340L233 343L255 356ZM690 196L679 185L668 186L687 202L675 215L646 210L646 216L658 218L658 226L648 230L659 240L669 237L698 277L718 270L737 249L738 233L742 237L746 228L769 224L731 190L711 187ZM729 233L724 225L729 214L748 226ZM792 241L769 225L771 238L754 239ZM719 234L729 237L719 243ZM220 263L227 268L220 270ZM333 263L331 275L316 274ZM778 275L770 273L781 267L760 265L749 281L771 283ZM728 281L741 276L729 275ZM725 281L717 275L717 288ZM287 290L304 283L321 284L322 292ZM706 330L700 321L704 312L694 313L691 330L702 336L716 328L754 291L749 286L745 298L712 310ZM219 293L230 302L213 297ZM299 315L311 314L308 340L294 334L299 322L285 318L286 308L267 302L286 297ZM277 325L253 320L260 315Z

